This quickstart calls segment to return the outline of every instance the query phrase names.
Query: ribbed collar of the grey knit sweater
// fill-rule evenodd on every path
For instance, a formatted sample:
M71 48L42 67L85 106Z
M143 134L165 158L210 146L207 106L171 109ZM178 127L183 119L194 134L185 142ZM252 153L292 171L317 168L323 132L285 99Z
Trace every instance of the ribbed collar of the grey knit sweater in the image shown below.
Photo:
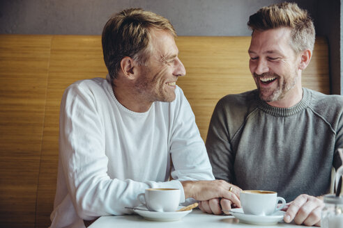
M296 104L295 106L292 106L291 108L277 108L274 106L270 106L269 104L266 103L266 101L262 101L259 98L259 94L258 91L256 90L256 95L257 95L257 99L258 99L258 107L270 114L270 115L274 115L274 116L289 116L289 115L294 115L300 111L302 111L303 109L307 108L307 106L309 106L310 101L311 101L311 94L310 92L306 89L303 88L303 99L301 99L300 102L298 102L298 104Z

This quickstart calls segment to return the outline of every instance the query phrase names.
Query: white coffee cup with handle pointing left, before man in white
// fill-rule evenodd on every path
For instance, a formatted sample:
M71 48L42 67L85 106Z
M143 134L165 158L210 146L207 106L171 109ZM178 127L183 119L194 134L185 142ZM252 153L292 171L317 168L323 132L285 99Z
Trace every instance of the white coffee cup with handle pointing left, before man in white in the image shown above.
M145 193L140 193L137 199L149 211L169 212L178 209L180 194L178 188L148 188Z

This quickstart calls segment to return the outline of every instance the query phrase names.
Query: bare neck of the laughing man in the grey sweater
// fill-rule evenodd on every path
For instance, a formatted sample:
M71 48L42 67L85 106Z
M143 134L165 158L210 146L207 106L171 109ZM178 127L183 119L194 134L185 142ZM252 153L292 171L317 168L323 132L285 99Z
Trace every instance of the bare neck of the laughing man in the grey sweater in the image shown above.
M291 108L298 104L301 99L303 99L303 88L301 84L294 86L291 90L287 92L282 99L277 101L267 102L270 106L277 108Z

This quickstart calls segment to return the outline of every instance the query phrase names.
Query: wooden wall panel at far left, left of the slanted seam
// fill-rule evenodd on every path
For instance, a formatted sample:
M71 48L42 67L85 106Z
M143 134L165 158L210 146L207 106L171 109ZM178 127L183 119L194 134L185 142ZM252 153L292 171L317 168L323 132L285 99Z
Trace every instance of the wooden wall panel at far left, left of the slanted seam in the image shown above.
M0 227L34 227L51 36L0 35Z

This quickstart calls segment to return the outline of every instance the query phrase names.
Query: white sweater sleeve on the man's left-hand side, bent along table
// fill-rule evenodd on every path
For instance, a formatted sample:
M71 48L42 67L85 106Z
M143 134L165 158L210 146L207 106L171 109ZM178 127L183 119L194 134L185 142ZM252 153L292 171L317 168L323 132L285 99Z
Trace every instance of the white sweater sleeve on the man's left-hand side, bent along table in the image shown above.
M180 181L111 179L107 163L116 161L109 161L105 154L106 123L98 117L96 106L91 91L85 92L77 84L66 90L61 101L59 157L79 218L132 213L125 206L141 204L137 195L146 188L183 189Z

